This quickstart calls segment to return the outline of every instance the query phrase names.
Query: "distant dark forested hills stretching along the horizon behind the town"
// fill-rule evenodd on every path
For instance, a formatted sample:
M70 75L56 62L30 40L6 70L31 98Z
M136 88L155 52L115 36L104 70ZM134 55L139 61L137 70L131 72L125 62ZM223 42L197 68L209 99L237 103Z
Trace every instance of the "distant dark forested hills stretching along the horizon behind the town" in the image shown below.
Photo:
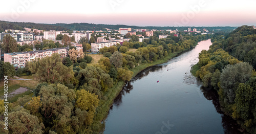
M56 31L69 31L69 30L102 30L105 28L119 30L119 28L132 28L132 29L156 29L156 30L187 30L188 28L196 28L197 30L203 30L206 28L208 31L219 32L226 31L231 32L237 27L138 27L138 26L127 26L127 25L105 25L105 24L89 24L89 23L73 23L73 24L36 24L36 23L21 23L21 22L9 22L0 20L0 32L4 32L6 29L13 30L24 30L23 28L39 29L39 30L56 30Z

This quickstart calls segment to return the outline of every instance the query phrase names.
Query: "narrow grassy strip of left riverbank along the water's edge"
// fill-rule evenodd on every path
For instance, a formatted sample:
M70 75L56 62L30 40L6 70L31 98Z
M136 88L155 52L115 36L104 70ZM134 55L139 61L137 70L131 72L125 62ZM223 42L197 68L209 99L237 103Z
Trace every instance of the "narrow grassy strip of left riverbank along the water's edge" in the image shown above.
M168 56L164 57L164 59L136 66L135 68L131 69L131 71L134 73L132 77L134 78L139 72L147 69L150 66L168 62L170 59L178 56L179 54L187 52L188 50L190 50L190 49L178 51L175 53L170 53L170 54L168 54ZM100 100L99 106L96 109L97 114L95 115L94 123L92 125L92 129L94 130L94 132L102 132L104 130L104 127L105 127L104 120L108 117L110 107L113 105L115 98L122 91L122 88L124 85L125 85L124 81L118 81L114 85L114 87L112 87L111 89L108 90L108 92L106 92L105 96L108 99Z

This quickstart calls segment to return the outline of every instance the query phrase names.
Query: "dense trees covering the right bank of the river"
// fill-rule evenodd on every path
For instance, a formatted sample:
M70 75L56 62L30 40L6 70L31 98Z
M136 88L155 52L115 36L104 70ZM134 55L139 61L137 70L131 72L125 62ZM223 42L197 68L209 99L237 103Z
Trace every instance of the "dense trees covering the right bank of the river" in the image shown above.
M248 55L255 50L254 36L255 30L248 26L226 37L215 35L210 49L201 51L199 62L193 66L199 69L195 75L203 86L218 92L222 111L249 133L256 131L256 58L255 54Z

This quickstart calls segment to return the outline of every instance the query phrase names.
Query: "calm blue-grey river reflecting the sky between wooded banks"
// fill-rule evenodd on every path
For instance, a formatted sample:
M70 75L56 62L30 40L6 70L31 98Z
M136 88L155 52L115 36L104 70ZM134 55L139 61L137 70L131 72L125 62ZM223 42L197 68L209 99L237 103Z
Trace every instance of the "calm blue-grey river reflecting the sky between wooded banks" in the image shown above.
M105 120L104 133L240 133L221 113L214 90L190 73L210 39L127 82ZM157 82L159 81L159 82Z

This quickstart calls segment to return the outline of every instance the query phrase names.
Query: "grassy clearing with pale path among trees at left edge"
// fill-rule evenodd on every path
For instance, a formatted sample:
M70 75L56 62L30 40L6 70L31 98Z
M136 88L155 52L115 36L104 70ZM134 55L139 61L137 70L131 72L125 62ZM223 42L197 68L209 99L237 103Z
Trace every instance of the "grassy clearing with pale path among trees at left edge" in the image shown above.
M31 75L21 76L19 78L33 79ZM37 80L10 80L10 79L18 79L18 78L8 78L8 102L14 102L18 99L18 97L31 94L31 91L39 83ZM22 88L19 88L19 87L26 87L28 88L28 91L21 90ZM16 91L17 89L19 89L20 91ZM24 91L24 92L20 93L21 91ZM11 93L13 93L13 95L10 95ZM4 98L4 81L1 81L0 82L0 99L3 99L3 98Z

